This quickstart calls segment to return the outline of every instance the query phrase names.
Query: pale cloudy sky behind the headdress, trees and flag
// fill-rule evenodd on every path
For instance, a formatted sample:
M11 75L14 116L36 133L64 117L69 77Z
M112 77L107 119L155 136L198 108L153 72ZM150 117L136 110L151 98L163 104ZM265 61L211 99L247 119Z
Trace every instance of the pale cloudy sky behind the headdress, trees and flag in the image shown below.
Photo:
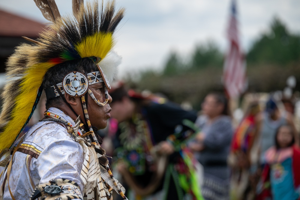
M71 12L71 0L56 3L61 15ZM171 51L188 59L197 44L208 40L226 50L230 0L117 0L117 6L126 9L116 32L116 52L123 57L119 77L150 67L159 71ZM46 22L33 0L1 0L0 8ZM299 9L299 0L237 0L244 51L268 31L274 16L300 33Z

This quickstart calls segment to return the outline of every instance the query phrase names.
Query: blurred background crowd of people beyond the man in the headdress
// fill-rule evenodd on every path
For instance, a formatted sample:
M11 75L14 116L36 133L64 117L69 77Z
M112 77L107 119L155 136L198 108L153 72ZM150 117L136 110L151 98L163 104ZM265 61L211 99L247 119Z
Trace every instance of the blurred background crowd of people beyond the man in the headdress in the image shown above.
M98 134L128 199L299 199L295 100L247 94L237 103L211 91L195 111L122 83L110 95Z

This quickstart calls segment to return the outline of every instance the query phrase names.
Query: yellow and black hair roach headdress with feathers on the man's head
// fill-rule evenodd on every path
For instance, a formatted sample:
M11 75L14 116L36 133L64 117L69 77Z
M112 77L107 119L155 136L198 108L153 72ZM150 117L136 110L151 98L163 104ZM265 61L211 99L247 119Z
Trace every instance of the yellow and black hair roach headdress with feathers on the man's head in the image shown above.
M36 4L52 23L37 41L27 38L33 44L21 44L8 59L7 83L1 95L1 150L11 147L31 118L47 70L85 57L97 58L100 65L115 44L113 33L124 13L124 9L115 12L114 1L104 7L103 2L100 6L96 1L84 5L82 0L73 0L73 16L66 17L60 17L54 0L37 0Z

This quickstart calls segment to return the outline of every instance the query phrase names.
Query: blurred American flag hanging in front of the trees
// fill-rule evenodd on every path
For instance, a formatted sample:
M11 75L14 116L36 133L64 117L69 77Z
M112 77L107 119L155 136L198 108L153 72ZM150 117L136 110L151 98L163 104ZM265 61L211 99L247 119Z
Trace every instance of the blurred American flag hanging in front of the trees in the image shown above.
M235 0L232 0L227 37L230 45L223 66L223 84L228 96L234 98L247 88L246 62L239 45Z

